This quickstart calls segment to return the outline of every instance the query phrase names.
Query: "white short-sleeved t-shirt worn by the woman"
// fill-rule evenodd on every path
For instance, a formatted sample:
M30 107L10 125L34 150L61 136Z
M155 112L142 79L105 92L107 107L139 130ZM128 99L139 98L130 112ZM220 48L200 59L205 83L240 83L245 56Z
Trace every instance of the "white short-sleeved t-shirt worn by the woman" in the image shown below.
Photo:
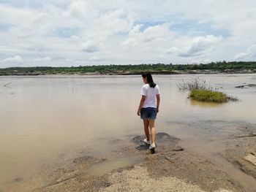
M146 96L146 99L143 103L143 108L154 107L157 108L157 94L159 94L159 86L156 85L154 88L151 88L148 84L142 86L140 95Z

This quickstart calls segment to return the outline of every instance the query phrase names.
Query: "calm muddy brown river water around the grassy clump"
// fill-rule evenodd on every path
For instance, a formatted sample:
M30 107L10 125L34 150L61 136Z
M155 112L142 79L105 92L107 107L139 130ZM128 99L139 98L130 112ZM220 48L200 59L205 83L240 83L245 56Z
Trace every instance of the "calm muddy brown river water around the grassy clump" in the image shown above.
M193 77L241 101L190 101L176 83ZM226 126L209 131L209 120L256 123L256 88L235 88L256 83L255 74L156 75L154 80L161 91L157 131L180 137L184 145L229 134ZM111 157L113 168L137 162L139 157L118 161L113 155L115 147L143 133L136 115L141 85L139 76L0 77L0 190L25 182L45 164L82 153Z

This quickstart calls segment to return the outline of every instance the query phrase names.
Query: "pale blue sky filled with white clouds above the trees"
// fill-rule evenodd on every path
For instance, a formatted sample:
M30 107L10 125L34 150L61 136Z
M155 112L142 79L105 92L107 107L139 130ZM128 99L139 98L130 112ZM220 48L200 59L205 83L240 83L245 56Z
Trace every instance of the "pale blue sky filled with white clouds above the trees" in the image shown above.
M0 0L0 68L255 60L255 0Z

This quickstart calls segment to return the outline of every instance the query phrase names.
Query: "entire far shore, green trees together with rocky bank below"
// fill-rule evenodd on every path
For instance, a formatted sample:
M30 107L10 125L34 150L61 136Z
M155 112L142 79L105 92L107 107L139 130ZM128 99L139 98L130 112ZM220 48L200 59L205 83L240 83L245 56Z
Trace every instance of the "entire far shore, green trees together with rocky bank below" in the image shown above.
M2 75L136 75L152 74L241 74L256 73L256 61L220 61L209 64L138 64L99 66L28 66L0 69Z

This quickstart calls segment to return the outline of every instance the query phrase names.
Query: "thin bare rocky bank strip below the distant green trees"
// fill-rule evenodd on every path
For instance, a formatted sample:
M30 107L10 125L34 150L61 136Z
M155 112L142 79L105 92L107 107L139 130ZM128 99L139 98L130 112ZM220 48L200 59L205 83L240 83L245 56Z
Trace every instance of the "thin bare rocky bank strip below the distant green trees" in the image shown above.
M37 76L37 75L54 75L54 74L77 74L77 75L139 75L143 71L129 72L2 72L0 76ZM173 70L173 71L151 71L151 74L255 74L256 69L203 69L203 70Z

